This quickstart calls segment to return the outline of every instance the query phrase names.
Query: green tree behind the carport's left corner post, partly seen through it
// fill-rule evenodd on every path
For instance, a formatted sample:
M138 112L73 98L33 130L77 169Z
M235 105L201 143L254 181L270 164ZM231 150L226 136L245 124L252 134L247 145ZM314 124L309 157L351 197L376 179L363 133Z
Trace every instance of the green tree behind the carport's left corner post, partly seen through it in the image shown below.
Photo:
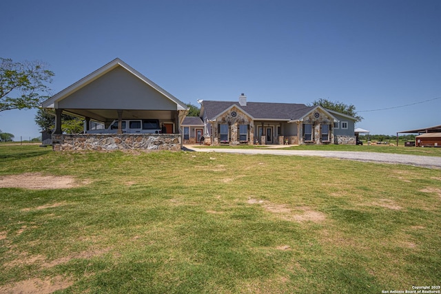
M39 109L35 115L35 123L41 131L52 132L55 126L55 112L50 109ZM61 130L67 134L83 132L84 125L81 118L61 114Z

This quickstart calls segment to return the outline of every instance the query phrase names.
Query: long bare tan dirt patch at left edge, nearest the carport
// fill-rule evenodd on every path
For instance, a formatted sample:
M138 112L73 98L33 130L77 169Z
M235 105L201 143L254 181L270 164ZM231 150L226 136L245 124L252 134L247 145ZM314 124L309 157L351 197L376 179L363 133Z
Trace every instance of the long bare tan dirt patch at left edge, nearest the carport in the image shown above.
M0 177L0 188L69 189L86 184L88 182L77 182L72 176L43 176L40 173Z

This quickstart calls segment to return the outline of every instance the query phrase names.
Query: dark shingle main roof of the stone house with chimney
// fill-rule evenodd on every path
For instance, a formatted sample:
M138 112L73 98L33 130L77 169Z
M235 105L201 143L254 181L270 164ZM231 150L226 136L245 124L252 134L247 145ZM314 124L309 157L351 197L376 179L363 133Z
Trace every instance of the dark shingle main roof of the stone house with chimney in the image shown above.
M240 106L234 101L203 101L203 107L208 119L212 119L225 109L236 105L254 119L296 120L302 118L315 106L307 106L300 103L263 103L247 102L247 106Z

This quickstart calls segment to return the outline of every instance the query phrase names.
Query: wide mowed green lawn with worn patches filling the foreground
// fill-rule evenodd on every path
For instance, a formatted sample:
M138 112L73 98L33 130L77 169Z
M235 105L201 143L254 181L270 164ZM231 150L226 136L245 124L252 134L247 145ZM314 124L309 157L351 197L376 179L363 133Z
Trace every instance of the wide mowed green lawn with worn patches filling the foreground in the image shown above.
M59 293L381 293L441 281L440 170L0 146L0 180L23 173L79 186L0 188L3 291L35 279L67 281Z

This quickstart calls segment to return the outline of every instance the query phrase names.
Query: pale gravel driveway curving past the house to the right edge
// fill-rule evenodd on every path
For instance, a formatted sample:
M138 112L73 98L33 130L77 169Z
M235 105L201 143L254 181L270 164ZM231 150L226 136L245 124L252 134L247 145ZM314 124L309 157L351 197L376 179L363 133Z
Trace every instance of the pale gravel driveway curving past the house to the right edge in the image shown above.
M417 156L406 154L387 154L377 152L352 152L352 151L316 151L316 150L283 150L283 149L216 149L192 148L197 152L218 152L234 154L272 154L285 156L322 156L347 160L360 160L369 162L393 163L399 165L413 165L429 169L441 169L441 157Z

